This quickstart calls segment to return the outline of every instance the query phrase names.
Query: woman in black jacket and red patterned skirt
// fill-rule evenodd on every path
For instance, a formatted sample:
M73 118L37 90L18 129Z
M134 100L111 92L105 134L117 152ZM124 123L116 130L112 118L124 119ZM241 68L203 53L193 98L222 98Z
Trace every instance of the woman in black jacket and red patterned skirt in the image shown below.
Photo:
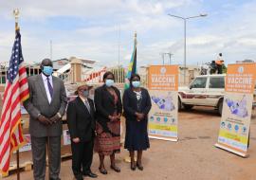
M95 90L94 95L97 112L95 151L100 155L99 170L102 174L107 174L104 167L105 155L110 155L110 168L117 172L120 171L116 165L115 153L120 151L122 104L119 89L114 86L114 74L106 72L103 75L103 81L104 84Z

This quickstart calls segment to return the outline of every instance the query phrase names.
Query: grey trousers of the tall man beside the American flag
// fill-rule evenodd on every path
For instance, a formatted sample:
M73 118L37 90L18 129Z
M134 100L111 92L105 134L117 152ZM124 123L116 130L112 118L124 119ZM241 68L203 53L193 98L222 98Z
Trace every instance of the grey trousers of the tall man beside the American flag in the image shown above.
M46 178L46 143L48 138L50 178L57 179L61 171L61 136L31 136L35 180L45 180Z

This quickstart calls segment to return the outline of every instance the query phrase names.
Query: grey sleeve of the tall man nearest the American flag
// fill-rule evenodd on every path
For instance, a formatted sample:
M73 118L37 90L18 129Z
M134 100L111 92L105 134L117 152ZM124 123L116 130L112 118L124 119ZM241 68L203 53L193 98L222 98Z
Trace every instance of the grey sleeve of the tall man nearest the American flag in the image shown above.
M33 119L37 119L40 111L33 105L32 98L33 98L33 90L32 90L32 82L31 79L28 79L28 90L29 90L29 98L23 102L25 109L30 117Z

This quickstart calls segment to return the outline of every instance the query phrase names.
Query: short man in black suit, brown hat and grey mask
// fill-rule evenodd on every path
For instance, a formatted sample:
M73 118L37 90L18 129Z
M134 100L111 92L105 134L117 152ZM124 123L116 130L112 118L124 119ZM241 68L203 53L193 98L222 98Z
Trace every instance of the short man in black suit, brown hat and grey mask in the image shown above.
M72 170L77 180L82 175L96 178L91 171L95 137L95 108L92 99L88 99L91 86L78 84L78 97L68 103L67 125L71 137Z

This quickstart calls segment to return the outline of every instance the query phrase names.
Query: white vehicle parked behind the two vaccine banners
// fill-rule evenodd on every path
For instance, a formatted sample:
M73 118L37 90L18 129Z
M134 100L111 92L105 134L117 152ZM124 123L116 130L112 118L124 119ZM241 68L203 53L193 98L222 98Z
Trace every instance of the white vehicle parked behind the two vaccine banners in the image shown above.
M192 109L193 106L210 106L222 114L226 74L197 76L189 87L178 89L178 109ZM255 101L255 90L254 90ZM255 107L253 102L253 107Z

